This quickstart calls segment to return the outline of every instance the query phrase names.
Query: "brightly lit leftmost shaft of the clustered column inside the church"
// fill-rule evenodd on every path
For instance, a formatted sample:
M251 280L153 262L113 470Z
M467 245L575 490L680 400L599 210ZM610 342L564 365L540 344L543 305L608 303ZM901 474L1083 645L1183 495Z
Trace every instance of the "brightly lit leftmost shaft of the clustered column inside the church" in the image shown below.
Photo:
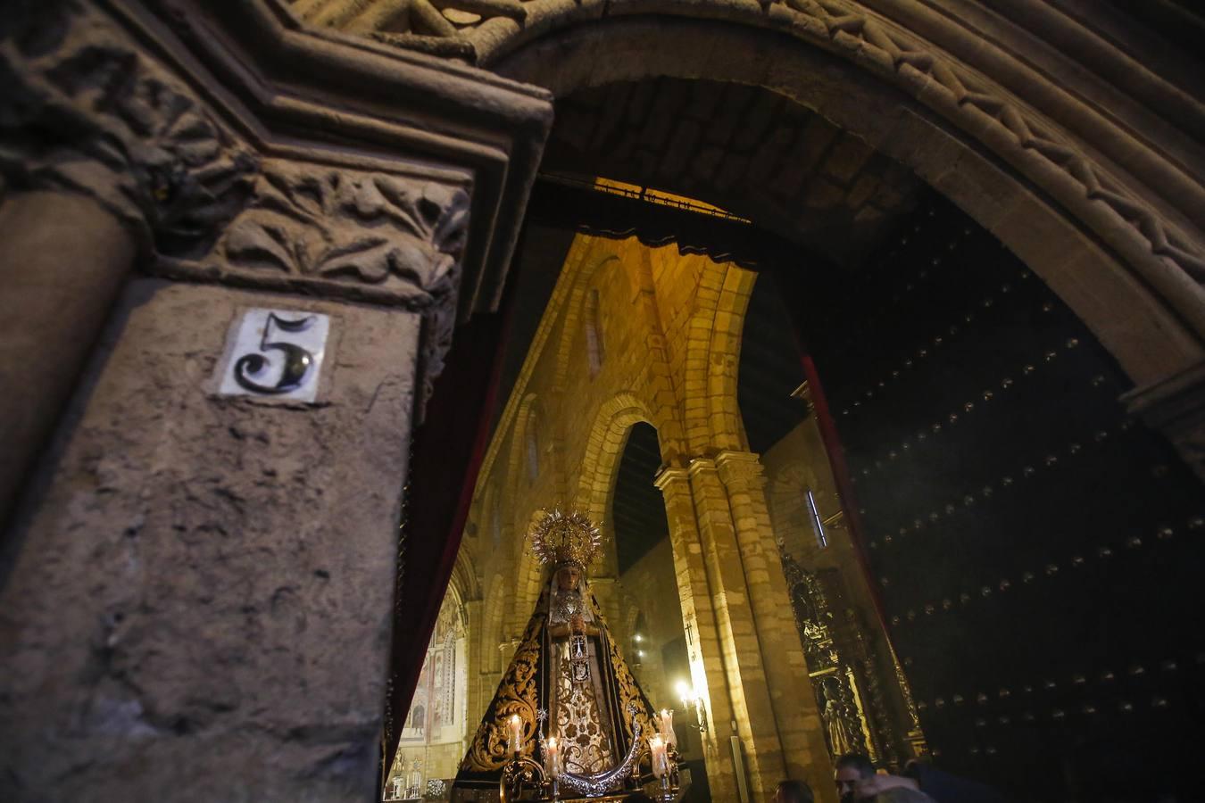
M728 739L733 736L734 708L729 698L727 657L711 601L690 478L686 468L669 467L662 470L654 484L665 497L674 573L682 603L687 657L690 661L690 683L695 693L703 698L707 718L707 731L703 734L707 783L713 799L735 801L736 775L731 751L728 749ZM690 720L687 718L682 726L675 726L688 727Z

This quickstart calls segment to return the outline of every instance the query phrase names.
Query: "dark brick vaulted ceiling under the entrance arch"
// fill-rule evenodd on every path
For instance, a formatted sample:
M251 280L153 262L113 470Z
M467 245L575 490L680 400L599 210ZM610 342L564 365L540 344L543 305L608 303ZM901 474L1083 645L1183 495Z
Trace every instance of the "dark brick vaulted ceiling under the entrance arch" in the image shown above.
M542 171L688 195L844 265L858 264L924 189L907 169L787 98L678 78L559 101Z

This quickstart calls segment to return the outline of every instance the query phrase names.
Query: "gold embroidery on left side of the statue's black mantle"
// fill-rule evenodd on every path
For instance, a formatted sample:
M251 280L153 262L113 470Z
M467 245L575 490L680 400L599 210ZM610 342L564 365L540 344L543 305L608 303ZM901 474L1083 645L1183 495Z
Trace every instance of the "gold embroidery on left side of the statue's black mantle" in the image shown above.
M547 592L537 603L537 609L547 609ZM519 642L515 657L511 660L506 675L502 678L498 693L494 696L494 708L490 716L482 720L477 733L460 769L468 772L492 772L501 769L510 756L506 752L505 722L513 714L523 721L523 752L530 756L535 744L536 709L539 708L539 689L536 689L536 669L540 663L540 640L543 636L543 622L547 616L533 616L523 640Z

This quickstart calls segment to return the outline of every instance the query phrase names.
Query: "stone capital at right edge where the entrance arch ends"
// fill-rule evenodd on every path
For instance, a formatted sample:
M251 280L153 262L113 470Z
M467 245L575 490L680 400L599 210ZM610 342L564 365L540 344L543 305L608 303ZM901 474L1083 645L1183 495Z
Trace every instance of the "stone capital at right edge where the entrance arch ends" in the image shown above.
M1205 480L1205 362L1122 396L1130 413L1163 432Z

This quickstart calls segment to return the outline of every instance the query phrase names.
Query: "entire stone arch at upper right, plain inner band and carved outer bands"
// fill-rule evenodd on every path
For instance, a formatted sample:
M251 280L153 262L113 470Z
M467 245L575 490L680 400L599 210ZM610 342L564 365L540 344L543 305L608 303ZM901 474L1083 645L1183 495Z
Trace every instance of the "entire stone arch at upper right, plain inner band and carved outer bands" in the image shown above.
M607 6L599 20L593 6L534 0L475 6L433 28L384 2L296 8L349 31L418 34L433 49L558 98L647 76L781 93L907 165L992 230L1135 384L1201 358L1205 161L1194 141L1205 116L1162 75L1187 75L1182 65L1127 36L1117 16L1041 4L953 12L875 0L637 0Z

